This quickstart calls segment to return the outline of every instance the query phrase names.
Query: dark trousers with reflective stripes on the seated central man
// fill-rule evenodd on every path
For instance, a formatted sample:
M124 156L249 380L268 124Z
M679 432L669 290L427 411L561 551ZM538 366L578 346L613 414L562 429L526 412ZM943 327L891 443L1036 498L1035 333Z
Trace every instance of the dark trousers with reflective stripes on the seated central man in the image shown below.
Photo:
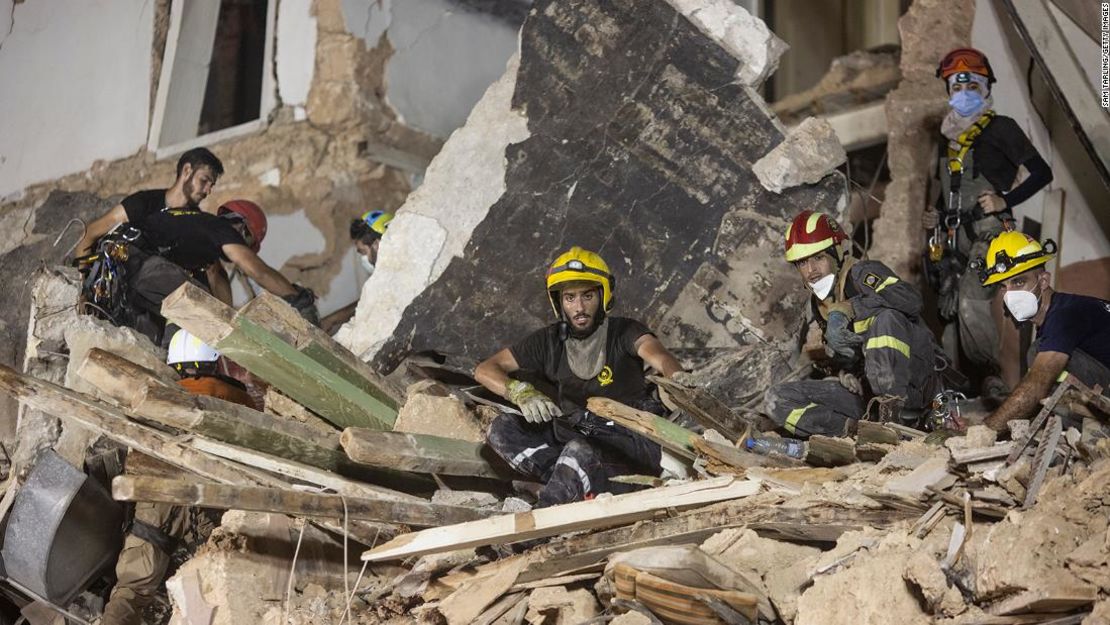
M549 423L502 413L490 425L488 443L513 468L544 483L541 507L630 492L609 477L660 471L658 444L585 411Z

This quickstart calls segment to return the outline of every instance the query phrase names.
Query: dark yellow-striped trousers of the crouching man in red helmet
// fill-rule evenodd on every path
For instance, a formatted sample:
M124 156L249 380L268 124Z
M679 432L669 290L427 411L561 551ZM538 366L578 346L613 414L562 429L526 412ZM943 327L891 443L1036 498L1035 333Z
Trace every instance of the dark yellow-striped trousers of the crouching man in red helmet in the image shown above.
M765 412L775 423L803 438L844 436L850 423L864 416L868 397L901 397L908 411L929 405L940 390L938 350L929 330L894 310L884 310L865 324L864 395L854 394L837 380L777 384L764 400Z

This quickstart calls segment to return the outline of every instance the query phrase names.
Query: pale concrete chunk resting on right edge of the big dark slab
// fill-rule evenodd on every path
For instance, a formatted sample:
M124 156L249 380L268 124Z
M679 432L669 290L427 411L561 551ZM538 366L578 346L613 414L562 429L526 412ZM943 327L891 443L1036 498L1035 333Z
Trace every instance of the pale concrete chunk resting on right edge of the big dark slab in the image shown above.
M751 165L764 189L781 193L799 184L813 184L848 160L829 122L806 118L786 139Z

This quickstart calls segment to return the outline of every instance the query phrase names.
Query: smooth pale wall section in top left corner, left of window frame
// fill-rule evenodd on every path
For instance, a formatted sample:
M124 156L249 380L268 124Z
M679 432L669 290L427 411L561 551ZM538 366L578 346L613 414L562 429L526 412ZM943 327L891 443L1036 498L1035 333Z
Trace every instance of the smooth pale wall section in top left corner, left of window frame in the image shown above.
M154 3L0 0L0 199L147 141Z

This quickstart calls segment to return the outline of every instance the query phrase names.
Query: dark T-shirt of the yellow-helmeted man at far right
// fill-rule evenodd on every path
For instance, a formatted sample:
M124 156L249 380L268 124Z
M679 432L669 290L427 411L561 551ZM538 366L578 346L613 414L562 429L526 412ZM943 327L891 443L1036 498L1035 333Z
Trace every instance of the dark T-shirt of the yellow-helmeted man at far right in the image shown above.
M1110 302L1087 295L1052 293L1037 350L1068 355L1082 350L1110 369Z

